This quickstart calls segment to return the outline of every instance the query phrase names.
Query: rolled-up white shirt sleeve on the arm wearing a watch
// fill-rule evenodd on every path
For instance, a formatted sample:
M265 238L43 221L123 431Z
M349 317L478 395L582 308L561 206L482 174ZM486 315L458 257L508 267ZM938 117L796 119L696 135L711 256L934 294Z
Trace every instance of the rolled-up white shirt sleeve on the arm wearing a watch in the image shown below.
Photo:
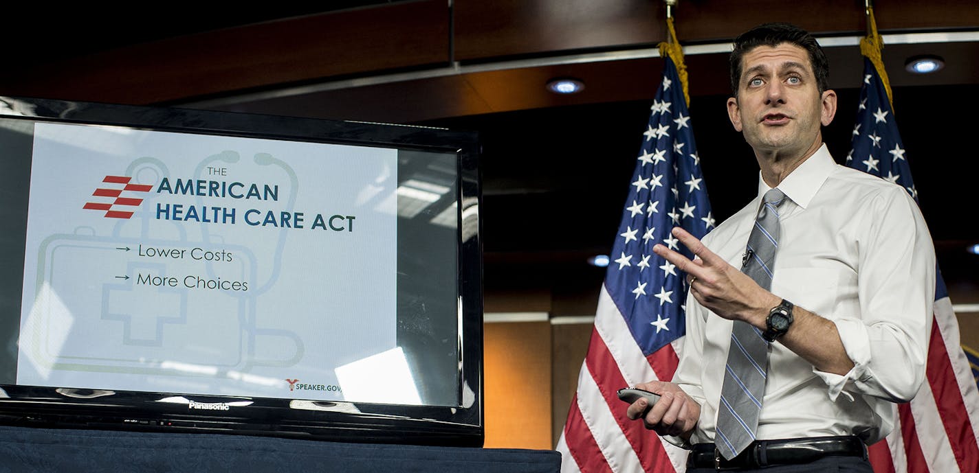
M935 250L916 203L895 187L875 195L856 250L859 314L833 322L854 367L844 375L814 369L830 399L861 394L907 402L924 380L935 301Z

